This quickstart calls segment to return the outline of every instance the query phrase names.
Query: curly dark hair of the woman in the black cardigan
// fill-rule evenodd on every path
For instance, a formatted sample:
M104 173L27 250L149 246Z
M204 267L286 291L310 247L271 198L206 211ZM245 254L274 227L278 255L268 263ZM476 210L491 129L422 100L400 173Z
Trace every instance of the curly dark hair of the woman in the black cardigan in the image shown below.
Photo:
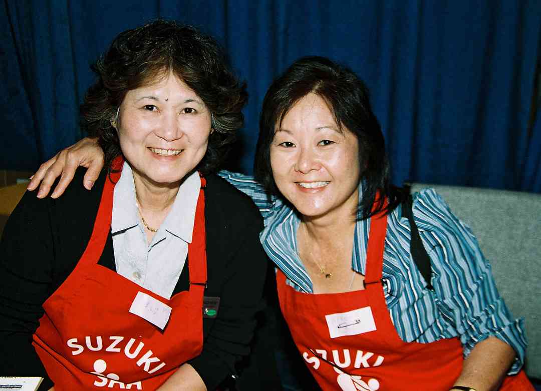
M217 171L236 131L244 124L241 112L248 100L246 82L229 69L215 39L193 26L157 19L121 32L93 65L98 79L81 105L82 128L97 136L105 154L104 167L121 154L116 129L118 107L129 90L173 72L203 100L212 113L214 132L197 165L202 174Z

